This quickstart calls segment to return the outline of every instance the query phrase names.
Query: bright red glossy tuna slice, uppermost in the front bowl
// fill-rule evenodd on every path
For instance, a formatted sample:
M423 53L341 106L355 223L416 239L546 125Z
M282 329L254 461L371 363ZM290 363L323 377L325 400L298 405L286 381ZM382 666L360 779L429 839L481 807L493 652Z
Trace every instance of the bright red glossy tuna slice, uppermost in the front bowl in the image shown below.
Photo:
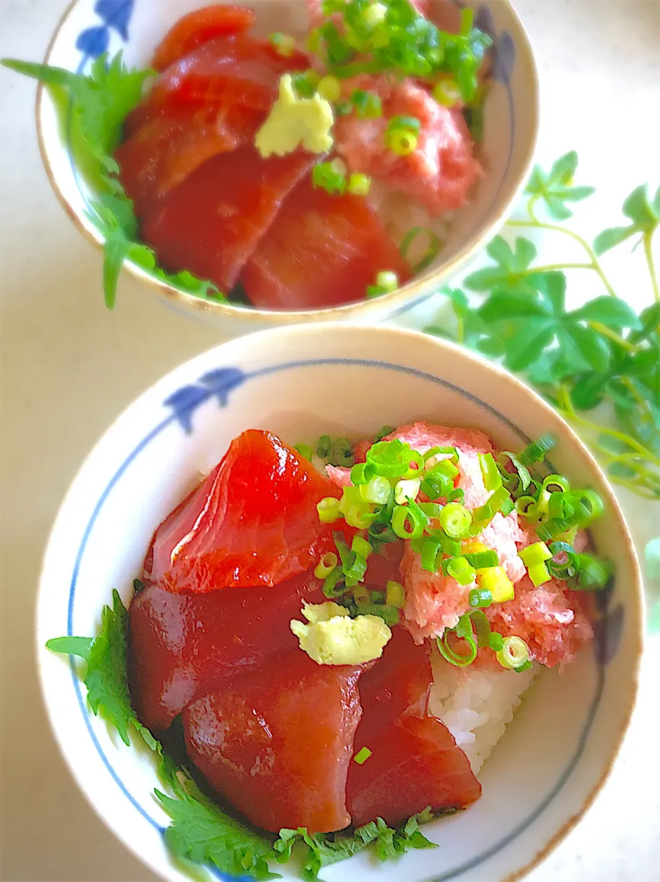
M154 534L146 578L170 591L273 587L332 542L316 504L339 491L270 432L251 429Z

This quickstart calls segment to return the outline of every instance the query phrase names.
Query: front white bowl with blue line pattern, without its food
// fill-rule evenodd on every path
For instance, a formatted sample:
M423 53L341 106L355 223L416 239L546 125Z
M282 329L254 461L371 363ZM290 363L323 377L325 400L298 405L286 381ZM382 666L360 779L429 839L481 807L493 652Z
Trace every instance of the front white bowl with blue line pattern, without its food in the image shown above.
M276 329L199 355L116 420L73 482L43 564L39 666L57 741L94 810L161 878L184 875L163 843L168 818L153 795L152 759L90 714L72 664L46 640L93 634L113 588L130 601L154 528L241 431L273 430L297 443L326 432L370 437L385 423L416 419L476 427L514 450L553 432L554 467L604 499L593 537L616 578L598 595L596 642L563 674L537 678L479 775L482 799L424 831L439 848L398 863L356 856L323 878L510 882L561 841L602 786L634 706L643 609L633 542L589 451L527 386L445 341L360 325ZM289 866L275 869L296 878Z

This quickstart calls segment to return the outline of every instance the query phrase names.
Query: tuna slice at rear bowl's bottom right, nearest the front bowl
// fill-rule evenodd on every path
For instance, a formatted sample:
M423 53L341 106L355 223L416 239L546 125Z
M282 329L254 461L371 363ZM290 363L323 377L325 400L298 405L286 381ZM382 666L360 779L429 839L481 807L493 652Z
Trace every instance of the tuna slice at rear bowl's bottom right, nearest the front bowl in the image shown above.
M245 266L255 306L321 309L362 300L383 270L409 280L408 264L366 199L331 196L303 181Z

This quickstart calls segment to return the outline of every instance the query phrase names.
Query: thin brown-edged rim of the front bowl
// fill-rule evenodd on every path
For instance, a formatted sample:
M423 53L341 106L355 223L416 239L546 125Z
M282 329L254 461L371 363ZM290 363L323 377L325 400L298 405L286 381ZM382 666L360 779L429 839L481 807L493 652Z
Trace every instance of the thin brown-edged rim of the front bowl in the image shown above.
M491 370L493 373L499 375L505 379L514 390L515 393L522 394L522 396L527 396L530 400L533 400L537 407L542 407L546 414L551 415L555 421L557 421L558 426L561 427L562 430L566 433L567 440L571 445L577 447L581 450L582 455L589 461L589 467L594 471L594 473L599 477L602 482L603 490L606 496L606 502L609 506L609 510L611 512L610 516L612 519L618 521L620 531L622 533L622 537L624 540L624 551L627 558L627 569L629 570L630 576L630 584L627 587L627 592L629 594L628 602L633 604L634 612L635 612L635 622L639 625L638 632L634 635L634 646L631 649L632 656L632 665L630 669L630 677L631 677L631 686L626 699L622 700L622 722L619 726L619 732L616 735L616 741L611 748L610 755L604 762L604 766L602 769L602 773L600 777L593 785L584 799L582 801L581 807L579 811L574 812L574 814L567 818L567 820L559 827L559 829L553 833L548 841L546 841L542 848L536 852L536 855L529 860L528 863L524 864L521 867L518 867L513 872L508 873L505 877L502 877L498 880L498 882L519 882L522 878L528 876L528 874L536 869L536 867L544 861L544 859L551 854L551 852L559 846L559 844L566 839L568 833L571 833L574 830L574 827L578 825L581 819L584 817L587 811L592 804L594 804L596 797L600 794L601 790L604 787L605 781L607 781L608 777L611 774L612 767L619 757L619 752L621 750L621 746L624 741L624 737L626 736L626 732L630 727L630 722L632 720L632 716L634 713L634 707L636 705L637 696L639 692L639 679L640 679L640 669L641 669L641 658L643 654L644 647L644 637L645 637L645 624L646 624L646 616L645 616L645 604L644 604L644 589L643 589L643 578L641 574L641 565L639 563L639 559L637 556L637 552L634 546L634 540L632 534L630 532L630 528L628 527L626 518L621 510L621 506L619 505L619 500L617 499L613 488L611 487L611 483L609 482L607 476L604 474L603 469L600 467L598 462L596 461L594 455L589 450L589 447L581 440L581 438L577 435L574 429L566 422L566 420L561 416L558 411L556 411L551 405L546 402L540 395L538 395L533 389L531 389L528 385L524 384L521 379L515 377L513 374L509 373L509 371L500 367L498 364L491 363L487 361L483 356L478 355L476 353L471 352L468 349L462 348L449 340L443 340L441 338L432 337L428 334L424 334L418 331L413 331L410 329L397 328L397 327L387 327L385 325L360 325L359 323L345 323L345 322L329 322L326 325L316 325L313 328L308 328L305 325L289 325L284 328L269 328L258 333L252 333L249 335L249 340L251 346L253 347L255 344L260 344L263 342L264 346L262 349L267 348L267 343L270 339L276 338L281 334L293 334L294 337L302 336L305 337L309 335L309 333L316 334L326 334L329 332L335 333L345 333L347 329L352 329L359 331L360 333L376 333L378 335L382 335L383 337L391 337L393 339L393 348L394 341L401 340L402 342L402 351L405 351L406 342L409 343L410 346L415 345L415 341L423 339L426 343L434 346L438 349L439 355L456 355L460 353L462 356L469 359L469 361L476 363L476 365L481 368L485 368L486 370ZM147 396L153 396L154 392L156 392L161 385L166 385L170 380L170 377L183 372L183 370L189 367L192 363L199 361L200 363L209 357L212 353L222 352L223 350L227 350L232 347L236 347L238 345L244 346L246 342L246 338L236 338L233 340L227 340L217 346L204 350L202 353L198 355L194 355L192 358L187 359L183 363L179 363L175 368L169 370L166 374L159 377L154 381L153 384L146 387L143 392L140 392L139 395L135 396L129 404L124 407L119 415L116 415L115 419L109 424L109 426L104 430L100 437L98 437L92 446L92 448L87 452L85 459L81 463L78 471L71 479L69 487L67 488L64 498L58 507L56 512L56 517L52 523L52 526L49 531L49 539L46 544L46 548L44 550L44 554L41 562L41 573L39 578L39 586L37 592L37 602L35 607L35 650L36 650L36 662L37 668L39 670L39 681L41 687L41 697L46 708L46 712L49 718L49 725L52 734L55 736L56 743L59 747L59 750L64 758L66 765L69 767L71 771L71 776L73 780L78 785L81 790L83 796L85 796L88 804L90 804L97 814L97 816L101 819L102 823L108 827L110 833L115 835L116 839L124 845L125 848L128 848L131 853L136 856L139 861L145 864L151 871L157 872L154 868L154 865L151 862L146 861L144 855L140 852L137 844L129 841L129 838L124 834L120 834L116 832L114 826L109 824L109 821L105 818L102 813L101 806L94 801L93 791L91 786L87 783L87 781L83 781L82 774L79 774L79 769L75 766L73 760L69 756L69 751L64 746L64 730L56 725L56 718L54 716L54 711L51 711L51 705L54 702L49 699L49 695L46 689L46 681L44 676L44 663L43 660L47 656L44 654L44 649L41 647L40 643L40 619L41 619L41 606L43 604L43 596L47 590L46 583L46 575L48 572L46 571L46 563L49 559L49 552L51 549L51 544L54 539L54 534L56 532L56 526L58 525L63 512L66 506L69 503L71 493L78 484L81 479L81 476L84 474L88 463L94 459L97 455L97 450L104 439L109 435L109 433L115 429L116 424L119 422L123 422L124 418L128 413L138 405L139 401L145 399ZM397 348L401 351L401 348ZM55 659L53 659L55 661ZM494 882L494 880L493 880Z

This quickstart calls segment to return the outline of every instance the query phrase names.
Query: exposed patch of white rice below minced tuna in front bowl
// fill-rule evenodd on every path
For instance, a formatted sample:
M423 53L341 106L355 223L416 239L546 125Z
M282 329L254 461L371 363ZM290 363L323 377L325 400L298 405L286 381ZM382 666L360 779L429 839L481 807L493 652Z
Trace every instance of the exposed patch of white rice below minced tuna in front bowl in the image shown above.
M477 774L514 719L514 711L536 676L535 663L520 674L501 669L455 668L439 653L431 656L433 685L429 712L439 717Z

